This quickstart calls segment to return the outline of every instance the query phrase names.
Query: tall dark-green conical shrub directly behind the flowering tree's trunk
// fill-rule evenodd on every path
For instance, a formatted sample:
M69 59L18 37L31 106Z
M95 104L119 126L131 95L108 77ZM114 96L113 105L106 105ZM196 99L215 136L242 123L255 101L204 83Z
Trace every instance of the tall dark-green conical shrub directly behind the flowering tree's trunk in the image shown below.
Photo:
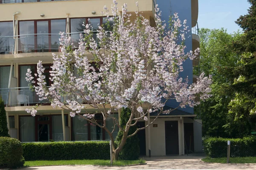
M126 122L128 122L129 118L131 116L131 110L129 108L122 108L120 113L120 126L125 127ZM132 122L134 123L134 122ZM131 126L128 132L128 135L134 133L136 131L136 126ZM117 136L116 136L116 144L119 144L121 142L123 136L123 132L119 130ZM139 138L136 135L132 136L131 138L128 138L126 140L125 146L119 153L118 159L120 160L137 160L140 157L140 144L139 144Z

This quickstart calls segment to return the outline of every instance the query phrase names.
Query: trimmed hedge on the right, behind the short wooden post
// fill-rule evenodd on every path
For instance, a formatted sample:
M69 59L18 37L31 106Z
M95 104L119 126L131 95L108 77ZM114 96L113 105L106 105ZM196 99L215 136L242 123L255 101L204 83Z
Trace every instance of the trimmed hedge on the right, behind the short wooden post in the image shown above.
M204 151L211 158L227 157L227 141L230 140L231 157L256 156L256 138L227 139L211 137L204 140Z

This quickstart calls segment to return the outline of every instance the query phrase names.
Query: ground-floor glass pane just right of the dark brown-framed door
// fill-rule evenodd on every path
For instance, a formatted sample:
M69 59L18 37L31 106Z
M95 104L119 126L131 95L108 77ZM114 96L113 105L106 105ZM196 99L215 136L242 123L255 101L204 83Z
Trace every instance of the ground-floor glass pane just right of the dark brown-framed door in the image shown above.
M67 126L67 115L64 115L65 126ZM62 116L52 116L52 140L63 141Z

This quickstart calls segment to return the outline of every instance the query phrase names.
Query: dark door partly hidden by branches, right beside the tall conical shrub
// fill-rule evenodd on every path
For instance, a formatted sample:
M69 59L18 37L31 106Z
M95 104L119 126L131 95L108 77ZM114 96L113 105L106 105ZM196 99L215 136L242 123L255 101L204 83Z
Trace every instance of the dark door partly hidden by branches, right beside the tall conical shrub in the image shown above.
M145 127L145 122L137 122L137 128ZM140 139L140 156L146 155L146 132L145 129L138 131L138 138Z

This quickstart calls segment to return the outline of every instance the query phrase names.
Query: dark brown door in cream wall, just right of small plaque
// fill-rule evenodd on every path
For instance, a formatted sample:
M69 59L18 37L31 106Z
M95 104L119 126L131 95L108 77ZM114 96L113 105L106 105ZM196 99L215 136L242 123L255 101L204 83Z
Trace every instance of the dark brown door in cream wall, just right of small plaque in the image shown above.
M166 155L179 154L178 121L165 121Z

